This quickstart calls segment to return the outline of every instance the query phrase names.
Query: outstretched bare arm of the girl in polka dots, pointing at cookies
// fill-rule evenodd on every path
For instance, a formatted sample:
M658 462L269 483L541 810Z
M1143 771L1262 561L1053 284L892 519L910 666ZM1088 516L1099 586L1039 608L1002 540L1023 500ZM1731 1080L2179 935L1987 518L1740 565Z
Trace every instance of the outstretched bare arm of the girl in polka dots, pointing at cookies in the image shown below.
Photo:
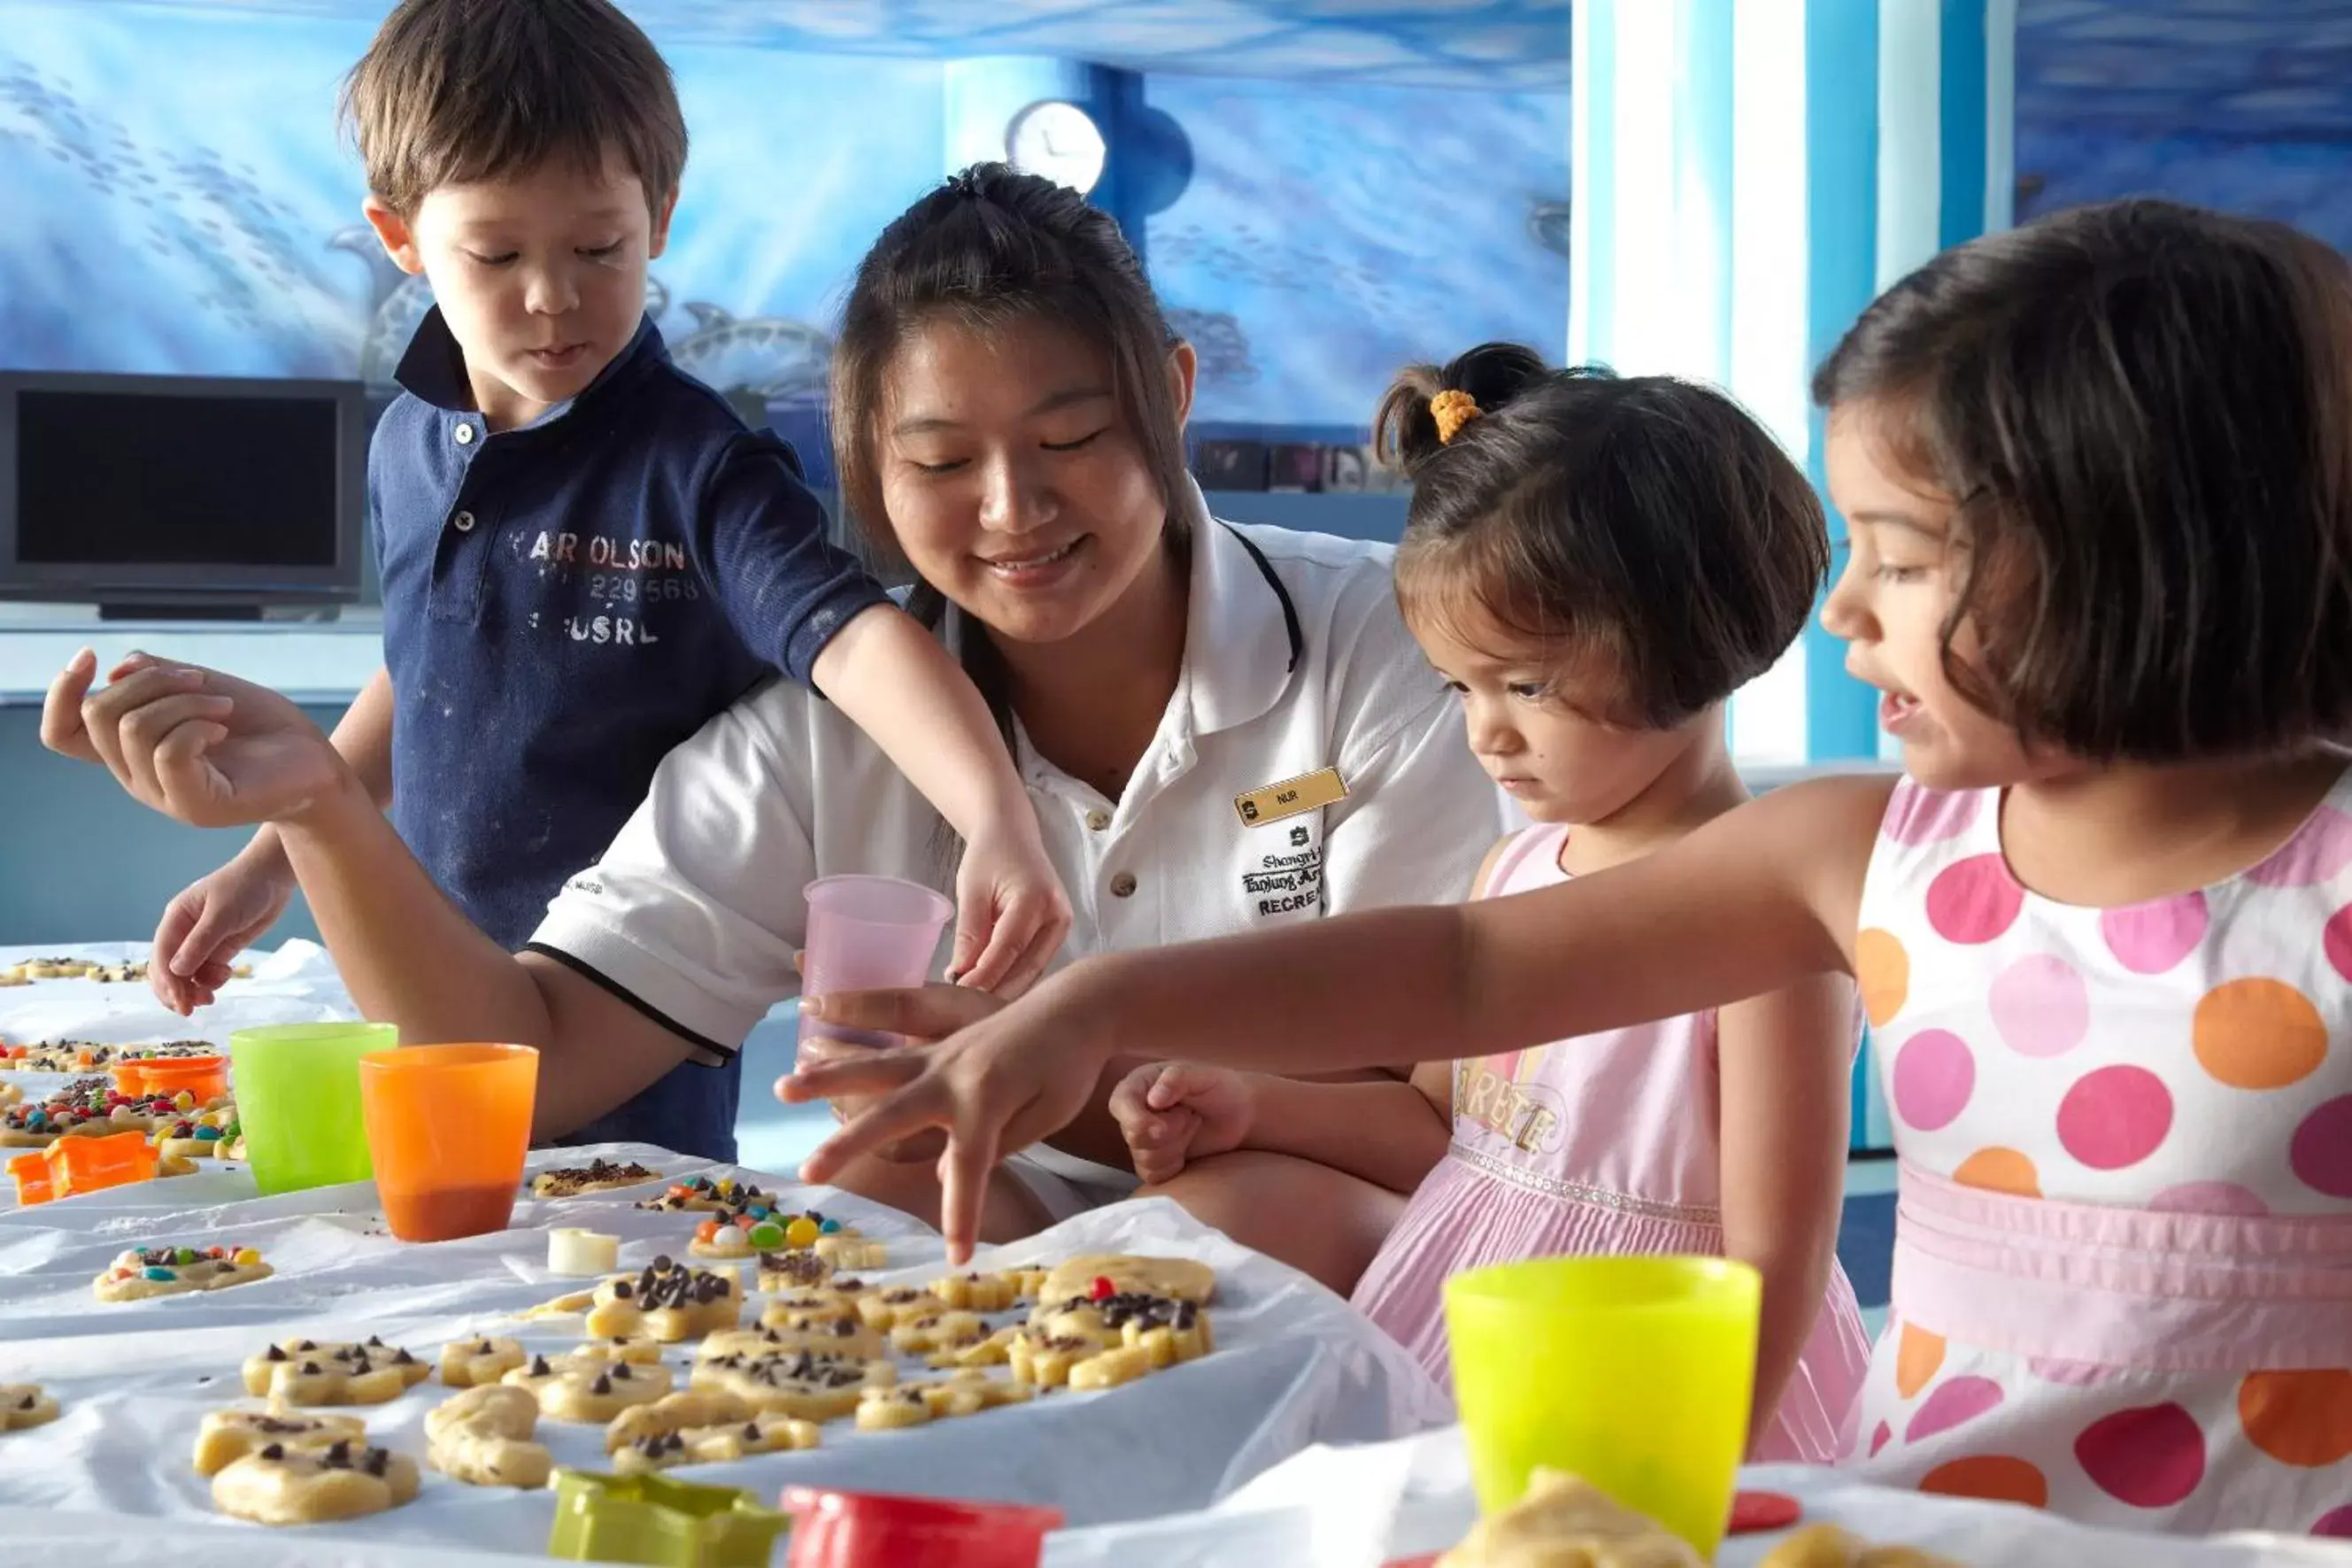
M1515 898L1089 959L924 1051L788 1079L790 1098L889 1091L804 1175L946 1126L941 1218L962 1258L988 1171L1077 1114L1110 1056L1282 1074L1489 1056L1851 969L1889 790L1795 785L1653 856Z

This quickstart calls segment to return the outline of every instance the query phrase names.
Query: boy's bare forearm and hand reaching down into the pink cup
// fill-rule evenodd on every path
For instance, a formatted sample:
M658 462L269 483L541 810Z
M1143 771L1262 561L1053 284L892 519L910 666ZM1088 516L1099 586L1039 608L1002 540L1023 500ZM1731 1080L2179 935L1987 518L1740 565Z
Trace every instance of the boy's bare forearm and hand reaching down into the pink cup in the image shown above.
M988 703L948 651L889 604L835 632L811 675L964 839L955 976L1007 997L1028 990L1070 933L1070 898L1044 858L1037 813Z

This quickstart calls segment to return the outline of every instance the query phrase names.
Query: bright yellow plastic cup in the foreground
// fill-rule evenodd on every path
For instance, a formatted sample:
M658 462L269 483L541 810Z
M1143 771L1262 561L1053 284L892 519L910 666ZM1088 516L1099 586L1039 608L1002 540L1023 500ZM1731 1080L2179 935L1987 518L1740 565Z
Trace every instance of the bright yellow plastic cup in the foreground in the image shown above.
M1712 1561L1748 1450L1762 1279L1726 1258L1541 1258L1446 1281L1454 1396L1489 1514L1543 1465Z

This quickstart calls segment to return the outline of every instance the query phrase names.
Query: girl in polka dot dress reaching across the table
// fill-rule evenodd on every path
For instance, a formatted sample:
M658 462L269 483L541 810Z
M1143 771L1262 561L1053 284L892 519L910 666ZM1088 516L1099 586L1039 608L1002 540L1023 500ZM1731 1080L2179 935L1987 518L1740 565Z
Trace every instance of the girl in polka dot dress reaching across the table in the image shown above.
M906 1088L811 1175L931 1121L950 1164L1018 1147L1110 1051L1331 1072L1846 971L1900 1154L1846 1462L2352 1535L2352 268L2082 207L1896 284L1816 397L1853 534L1823 621L1900 783L1792 785L1519 898L1070 969L866 1063Z

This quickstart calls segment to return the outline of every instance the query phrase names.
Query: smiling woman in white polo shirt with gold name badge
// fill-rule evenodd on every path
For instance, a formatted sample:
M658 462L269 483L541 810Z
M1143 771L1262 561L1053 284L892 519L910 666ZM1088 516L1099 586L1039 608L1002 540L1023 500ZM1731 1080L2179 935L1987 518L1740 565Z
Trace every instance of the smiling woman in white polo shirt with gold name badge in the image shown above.
M922 578L910 609L962 651L1014 738L1070 891L1070 957L1458 898L1461 867L1503 830L1456 703L1397 616L1388 550L1207 515L1183 465L1192 371L1115 223L995 165L884 230L837 348L844 501L887 520L877 536ZM369 1018L402 1039L541 1046L541 1135L680 1060L731 1072L750 1027L797 992L809 879L953 886L936 813L856 726L779 682L670 752L604 858L506 954L435 893L289 703L228 677L207 686L235 696L235 738L268 745L191 736L148 766L209 752L240 813L282 820ZM155 750L148 724L122 724L136 701L139 682L120 682L92 698L89 724ZM995 1237L1134 1187L1108 1088L1000 1173ZM1430 1161L1444 1140L1432 1117ZM901 1154L844 1185L936 1218L931 1164ZM1188 1171L1183 1197L1341 1288L1402 1208L1350 1175L1247 1152ZM1291 1237L1289 1197L1362 1222Z

